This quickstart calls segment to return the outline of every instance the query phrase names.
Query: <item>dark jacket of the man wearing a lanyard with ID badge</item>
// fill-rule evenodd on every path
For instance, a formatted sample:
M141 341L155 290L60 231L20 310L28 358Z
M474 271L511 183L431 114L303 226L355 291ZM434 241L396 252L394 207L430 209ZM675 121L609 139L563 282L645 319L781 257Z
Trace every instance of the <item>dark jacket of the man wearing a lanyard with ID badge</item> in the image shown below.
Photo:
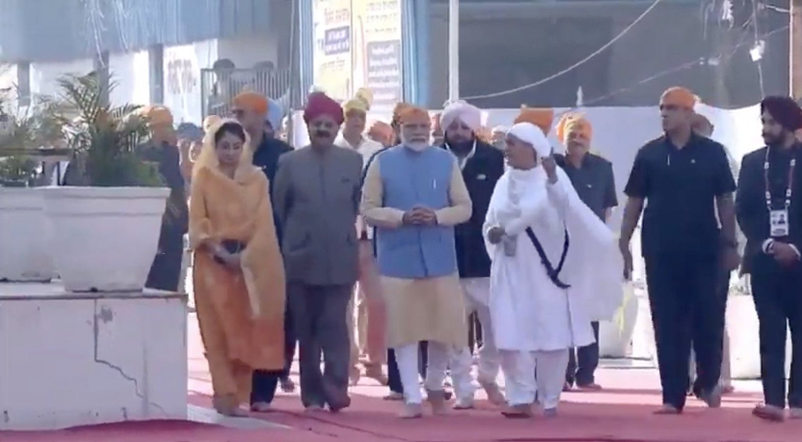
M769 238L769 214L766 207L766 184L764 179L764 159L766 147L751 152L743 157L738 191L735 194L735 213L738 224L747 237L743 251L743 271L749 273L755 257L763 253L763 243ZM802 251L802 143L796 143L793 155L796 155L796 170L793 177L791 207L788 213L788 227L791 235L779 239L784 243L792 243ZM772 160L770 159L770 162ZM786 159L772 162L769 181L772 188L772 199L779 199L775 208L782 207L784 193L788 187L788 167ZM772 168L775 170L772 171ZM781 170L780 170L781 169Z

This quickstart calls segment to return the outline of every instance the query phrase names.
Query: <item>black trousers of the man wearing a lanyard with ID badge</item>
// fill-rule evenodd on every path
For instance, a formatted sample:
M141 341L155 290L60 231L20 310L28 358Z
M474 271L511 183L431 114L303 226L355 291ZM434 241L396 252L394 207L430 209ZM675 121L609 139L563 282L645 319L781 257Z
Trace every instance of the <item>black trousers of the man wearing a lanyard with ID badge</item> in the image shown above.
M790 327L788 405L802 408L802 263L785 268L771 256L755 257L751 290L760 323L760 379L766 404L785 408L785 340Z

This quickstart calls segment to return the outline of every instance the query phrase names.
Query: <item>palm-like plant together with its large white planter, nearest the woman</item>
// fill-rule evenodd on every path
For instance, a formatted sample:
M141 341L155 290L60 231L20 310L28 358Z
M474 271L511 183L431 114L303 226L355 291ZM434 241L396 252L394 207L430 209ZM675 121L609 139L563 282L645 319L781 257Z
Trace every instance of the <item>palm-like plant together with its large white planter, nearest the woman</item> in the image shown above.
M136 149L139 106L111 106L94 73L59 79L74 152L67 184L43 189L55 267L68 291L141 291L156 255L169 190Z

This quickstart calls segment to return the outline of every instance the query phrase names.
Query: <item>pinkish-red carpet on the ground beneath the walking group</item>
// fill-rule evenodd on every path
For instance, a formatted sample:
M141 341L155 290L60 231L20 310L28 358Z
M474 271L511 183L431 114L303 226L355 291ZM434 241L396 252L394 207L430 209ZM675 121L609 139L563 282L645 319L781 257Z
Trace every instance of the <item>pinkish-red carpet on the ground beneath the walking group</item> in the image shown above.
M209 407L211 386L196 331L189 334L191 404ZM772 424L750 415L760 395L755 383L738 385L719 409L691 400L683 416L653 416L659 404L654 370L603 369L604 392L564 395L560 416L506 420L486 401L470 412L395 417L399 403L380 399L386 388L364 380L351 408L337 415L302 413L298 394L278 396L276 412L261 415L290 428L235 430L175 421L108 424L59 432L0 432L0 442L800 442L802 421Z

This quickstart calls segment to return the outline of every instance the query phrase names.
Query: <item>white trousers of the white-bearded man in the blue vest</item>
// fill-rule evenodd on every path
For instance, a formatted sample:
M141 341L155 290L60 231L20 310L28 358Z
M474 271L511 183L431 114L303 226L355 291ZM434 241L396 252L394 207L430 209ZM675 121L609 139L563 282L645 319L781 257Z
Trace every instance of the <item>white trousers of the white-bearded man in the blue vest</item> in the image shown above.
M420 404L423 395L418 381L418 343L395 348L395 362L399 367L399 377L403 385L404 401L407 404ZM431 392L442 392L446 380L448 359L452 348L447 344L429 341L428 364L423 388Z

